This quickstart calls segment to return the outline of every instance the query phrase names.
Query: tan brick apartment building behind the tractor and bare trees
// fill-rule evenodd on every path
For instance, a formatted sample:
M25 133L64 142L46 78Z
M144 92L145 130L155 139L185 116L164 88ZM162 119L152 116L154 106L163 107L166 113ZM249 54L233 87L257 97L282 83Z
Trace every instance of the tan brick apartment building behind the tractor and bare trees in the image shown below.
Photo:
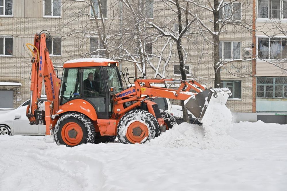
M276 10L273 9L274 0L269 1L259 0L257 3L256 26L274 19ZM122 14L119 9L122 5L117 5L118 8L109 9L109 6L115 1L102 0L103 3L103 16L105 21L109 24L119 26L121 23ZM154 21L164 20L170 17L170 13L158 11L158 7L154 7L155 3L148 1L150 11L148 17ZM268 2L266 5L266 2ZM235 13L232 15L232 20L241 22L242 18L252 18L253 10L251 4L241 6L243 2L234 2L229 7L222 9L222 15L229 13L233 10ZM280 6L285 4L280 1ZM264 7L264 6L265 7ZM98 11L98 5L95 4L95 10ZM248 8L249 7L249 8ZM263 8L262 8L263 7ZM269 10L269 7L270 10ZM71 15L75 9L83 9L84 13L81 17L73 18ZM268 13L259 10L268 9ZM116 11L115 11L116 10ZM274 11L275 10L275 11ZM118 11L118 12L117 12ZM262 12L262 14L261 14ZM270 12L270 13L269 13ZM272 12L272 14L271 14ZM279 11L280 12L280 11ZM282 12L282 11L281 11ZM284 19L283 12L280 12L280 18ZM75 4L72 1L61 0L0 0L0 107L14 108L19 106L22 102L29 99L30 95L30 59L31 55L26 49L26 43L33 43L33 36L42 30L48 30L51 33L51 40L47 42L50 52L50 57L54 65L61 67L65 61L78 58L82 56L83 52L90 52L85 57L89 56L102 56L104 52L102 44L96 34L83 35L81 37L71 34L71 32L80 31L84 26L94 25L91 24L92 11L90 7L86 7L83 3ZM259 17L260 15L260 17ZM271 15L271 16L270 16ZM212 17L212 15L207 15ZM220 19L224 19L224 18ZM261 18L262 17L262 18ZM212 26L212 23L210 23ZM268 31L268 25L262 25L262 30ZM174 31L177 31L178 26L172 24ZM92 27L91 27L92 28ZM271 31L268 31L271 33ZM268 38L268 39L267 39ZM252 78L252 61L240 61L241 59L249 59L250 49L252 48L253 37L250 32L241 32L240 30L233 30L227 28L226 32L220 35L220 58L222 60L238 60L231 65L221 69L222 87L229 87L232 90L232 97L228 99L227 106L232 112L238 113L239 118L244 118L242 113L248 113L248 116L253 116L250 120L257 120L259 112L276 113L285 112L284 109L284 96L285 78L284 73L278 67L266 62L266 59L274 59L273 47L280 44L280 56L284 57L285 41L278 40L284 39L283 35L276 37L266 37L266 34L256 32L256 54L259 59L256 60L256 81L257 91L256 99L253 93L254 84ZM276 40L277 39L277 40ZM201 44L203 41L198 38L197 43ZM152 42L146 44L146 52L152 54L160 49L164 42ZM277 44L274 45L273 42ZM214 69L212 66L212 57L210 50L206 53L204 62L199 62L199 54L194 49L193 45L188 42L184 46L189 50L185 71L188 78L195 78L207 87L214 86ZM268 46L265 46L266 43ZM262 48L264 45L264 48ZM198 46L200 47L200 46ZM267 49L266 49L267 47ZM269 49L268 49L269 48ZM176 47L173 46L172 49ZM276 49L277 50L277 49ZM278 49L279 50L279 49ZM277 51L278 52L278 51ZM277 53L277 56L279 54ZM280 58L281 58L280 57ZM152 64L157 67L159 58L157 56L151 57ZM131 62L120 61L120 69L124 70L125 67L129 69L130 76L134 75L134 65ZM169 64L165 67L159 66L159 71L165 73L164 77L167 78L180 78L178 58L174 54L171 56ZM140 71L138 71L140 73ZM280 73L280 75L279 75ZM146 66L147 77L155 77L156 73L151 65ZM61 76L61 68L59 68L59 76ZM280 80L279 80L280 79ZM272 84L270 85L270 83ZM279 84L278 84L279 83ZM287 83L287 82L286 82ZM272 86L272 87L271 87ZM272 90L270 90L272 89ZM282 89L282 97L279 95ZM277 93L276 93L277 92ZM272 96L272 97L270 97ZM254 103L256 102L256 103ZM177 103L176 101L174 103ZM254 103L254 104L253 104ZM256 104L256 110L254 106ZM286 108L286 107L285 107ZM252 114L252 112L257 112ZM251 115L250 115L251 114ZM273 115L273 114L272 114ZM242 117L243 116L243 117ZM256 118L256 119L255 119Z

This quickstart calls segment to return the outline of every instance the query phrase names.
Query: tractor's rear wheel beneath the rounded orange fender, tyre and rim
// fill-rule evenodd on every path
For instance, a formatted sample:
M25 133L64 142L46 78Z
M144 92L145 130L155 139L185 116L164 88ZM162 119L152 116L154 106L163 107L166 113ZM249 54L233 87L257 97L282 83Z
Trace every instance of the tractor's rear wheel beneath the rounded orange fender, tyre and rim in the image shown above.
M55 141L58 145L74 147L85 143L94 143L95 128L84 114L70 112L62 115L54 128Z

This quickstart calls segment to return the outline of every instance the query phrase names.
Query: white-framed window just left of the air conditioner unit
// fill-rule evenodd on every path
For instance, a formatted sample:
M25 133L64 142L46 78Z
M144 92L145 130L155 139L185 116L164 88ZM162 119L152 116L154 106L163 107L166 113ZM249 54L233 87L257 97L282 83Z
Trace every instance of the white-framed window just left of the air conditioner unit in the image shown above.
M220 59L241 59L241 42L237 41L220 41L219 42Z

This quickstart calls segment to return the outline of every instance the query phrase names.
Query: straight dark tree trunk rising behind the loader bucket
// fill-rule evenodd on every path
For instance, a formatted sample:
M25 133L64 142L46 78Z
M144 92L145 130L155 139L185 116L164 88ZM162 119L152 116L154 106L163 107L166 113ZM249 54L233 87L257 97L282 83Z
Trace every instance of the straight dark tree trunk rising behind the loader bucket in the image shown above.
M214 17L214 34L213 37L213 64L214 64L214 87L218 88L220 87L220 58L219 58L219 11L218 9L219 2L218 0L214 0L214 11L213 11L213 17Z

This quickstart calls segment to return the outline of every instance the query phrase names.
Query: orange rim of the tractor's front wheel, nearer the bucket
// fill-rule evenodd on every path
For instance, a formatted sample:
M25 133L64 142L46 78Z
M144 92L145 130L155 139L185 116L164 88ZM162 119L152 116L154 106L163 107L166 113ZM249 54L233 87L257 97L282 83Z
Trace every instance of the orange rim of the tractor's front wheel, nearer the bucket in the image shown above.
M135 121L128 126L126 137L131 143L141 143L148 137L148 127L144 123Z

